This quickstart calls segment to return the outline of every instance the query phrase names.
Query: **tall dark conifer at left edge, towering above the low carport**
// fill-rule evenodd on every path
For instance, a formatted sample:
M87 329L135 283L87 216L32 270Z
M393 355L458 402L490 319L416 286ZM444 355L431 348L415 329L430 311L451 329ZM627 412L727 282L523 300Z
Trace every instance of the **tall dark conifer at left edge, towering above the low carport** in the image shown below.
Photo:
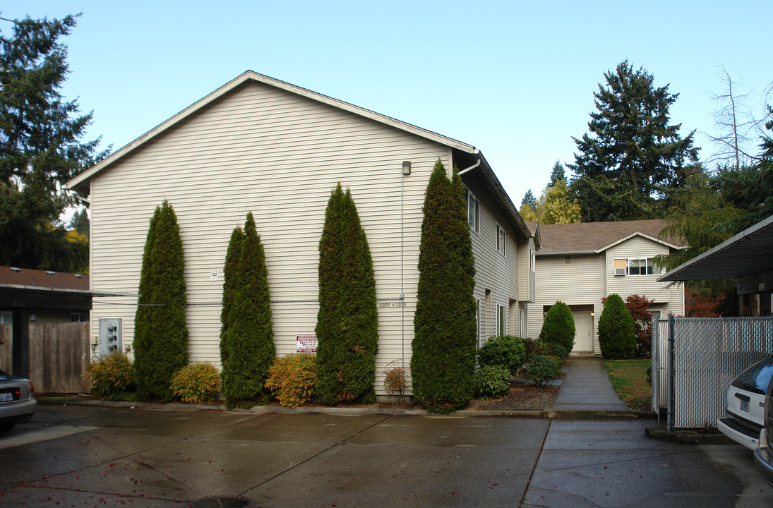
M88 265L84 242L57 219L73 198L62 184L107 152L83 142L91 113L60 90L76 17L0 20L0 265L71 272Z

